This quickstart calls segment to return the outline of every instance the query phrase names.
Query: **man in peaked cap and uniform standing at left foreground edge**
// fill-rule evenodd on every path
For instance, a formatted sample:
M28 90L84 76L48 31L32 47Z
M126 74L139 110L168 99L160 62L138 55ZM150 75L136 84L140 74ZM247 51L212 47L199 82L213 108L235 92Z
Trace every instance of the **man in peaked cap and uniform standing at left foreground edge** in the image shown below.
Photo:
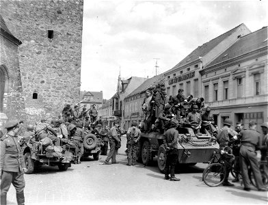
M18 122L6 122L8 133L1 138L0 178L1 178L1 204L7 204L7 193L12 183L16 189L16 200L20 205L25 204L24 197L24 172L25 162L21 146L18 143Z

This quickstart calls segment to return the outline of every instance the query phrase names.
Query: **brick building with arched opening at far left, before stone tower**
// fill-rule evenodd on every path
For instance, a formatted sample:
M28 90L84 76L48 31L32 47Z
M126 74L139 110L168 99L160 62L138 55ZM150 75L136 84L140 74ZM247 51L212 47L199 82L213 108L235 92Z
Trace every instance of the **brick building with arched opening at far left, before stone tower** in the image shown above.
M5 120L27 120L18 59L21 40L12 35L0 15L0 128Z

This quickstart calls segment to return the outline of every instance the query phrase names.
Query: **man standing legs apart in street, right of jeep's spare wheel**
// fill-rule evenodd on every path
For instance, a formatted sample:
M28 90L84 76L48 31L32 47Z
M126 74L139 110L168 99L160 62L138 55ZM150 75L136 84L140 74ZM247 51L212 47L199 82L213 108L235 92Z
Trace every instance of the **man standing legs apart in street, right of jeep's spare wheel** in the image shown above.
M113 126L110 129L109 132L110 152L103 163L104 165L110 165L109 163L110 159L112 164L116 164L116 151L117 151L116 144L120 142L120 139L118 139L118 131L117 131L118 126L119 126L118 122L113 122Z

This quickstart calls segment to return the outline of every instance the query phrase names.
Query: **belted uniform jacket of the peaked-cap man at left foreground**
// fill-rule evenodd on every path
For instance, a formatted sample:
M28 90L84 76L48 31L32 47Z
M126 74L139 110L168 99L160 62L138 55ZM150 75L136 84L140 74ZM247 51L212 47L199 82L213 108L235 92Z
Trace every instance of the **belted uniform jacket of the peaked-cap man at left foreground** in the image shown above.
M25 163L18 137L6 134L0 142L0 172L23 172Z

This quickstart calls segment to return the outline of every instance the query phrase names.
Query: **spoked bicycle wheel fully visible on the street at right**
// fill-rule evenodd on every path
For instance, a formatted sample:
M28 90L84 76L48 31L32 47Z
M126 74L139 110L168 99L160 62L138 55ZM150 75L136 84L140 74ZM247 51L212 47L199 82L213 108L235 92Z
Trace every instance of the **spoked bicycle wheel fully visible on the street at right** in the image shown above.
M226 169L224 165L213 163L204 169L202 179L209 187L217 187L224 182L225 177Z

